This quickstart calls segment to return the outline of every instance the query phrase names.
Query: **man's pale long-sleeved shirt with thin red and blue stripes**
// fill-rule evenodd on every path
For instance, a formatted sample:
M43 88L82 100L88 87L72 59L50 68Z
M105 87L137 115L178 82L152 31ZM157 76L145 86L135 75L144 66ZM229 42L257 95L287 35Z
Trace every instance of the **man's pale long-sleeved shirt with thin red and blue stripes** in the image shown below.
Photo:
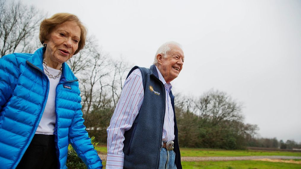
M157 68L157 67L156 67ZM165 87L165 116L162 132L162 140L169 141L175 139L174 134L174 113L172 109L169 92L172 88L170 83L166 83L162 74L157 68L159 79ZM135 69L124 82L123 89L114 114L107 128L107 164L106 168L123 168L123 141L124 132L132 127L137 114L141 108L144 98L144 89L141 71ZM146 136L147 137L147 136Z

